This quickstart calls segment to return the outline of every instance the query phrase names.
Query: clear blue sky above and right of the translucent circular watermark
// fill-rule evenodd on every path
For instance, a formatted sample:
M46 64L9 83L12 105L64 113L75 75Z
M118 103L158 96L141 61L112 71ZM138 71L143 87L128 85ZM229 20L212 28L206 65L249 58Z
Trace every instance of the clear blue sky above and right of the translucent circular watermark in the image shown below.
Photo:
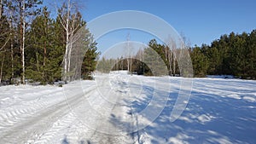
M47 2L52 1L46 0ZM189 39L191 46L210 44L212 40L230 32L251 32L256 29L255 0L85 0L81 2L84 5L81 11L86 21L119 10L139 10L154 14L166 20L177 32L183 33ZM114 38L117 37L113 34Z

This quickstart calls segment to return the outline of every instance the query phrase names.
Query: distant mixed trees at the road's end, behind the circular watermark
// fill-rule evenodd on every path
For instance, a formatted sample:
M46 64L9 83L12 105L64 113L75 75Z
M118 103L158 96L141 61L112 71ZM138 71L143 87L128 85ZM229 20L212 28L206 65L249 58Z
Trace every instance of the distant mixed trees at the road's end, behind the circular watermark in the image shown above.
M181 72L178 59L185 55L185 50L178 48L176 44L171 45L170 48L166 44L158 43L156 39L152 39L146 48L137 50L135 55L121 56L117 59L102 57L98 61L96 70L100 72L128 70L130 73L145 76L183 76L185 72ZM179 62L182 64L181 62L187 61Z

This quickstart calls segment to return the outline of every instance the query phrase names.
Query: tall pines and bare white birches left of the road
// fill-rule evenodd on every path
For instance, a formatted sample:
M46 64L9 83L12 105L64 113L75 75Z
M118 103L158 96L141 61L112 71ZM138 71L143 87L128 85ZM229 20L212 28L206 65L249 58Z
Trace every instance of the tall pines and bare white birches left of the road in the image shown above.
M0 83L53 84L90 78L99 52L77 3L56 6L52 18L41 0L1 0Z

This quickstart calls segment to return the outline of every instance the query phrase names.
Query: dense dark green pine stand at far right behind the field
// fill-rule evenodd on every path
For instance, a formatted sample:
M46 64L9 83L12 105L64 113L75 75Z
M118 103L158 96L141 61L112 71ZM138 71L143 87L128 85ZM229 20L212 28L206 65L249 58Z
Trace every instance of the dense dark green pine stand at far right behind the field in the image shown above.
M233 75L256 78L256 30L224 34L210 45L190 49L195 76Z

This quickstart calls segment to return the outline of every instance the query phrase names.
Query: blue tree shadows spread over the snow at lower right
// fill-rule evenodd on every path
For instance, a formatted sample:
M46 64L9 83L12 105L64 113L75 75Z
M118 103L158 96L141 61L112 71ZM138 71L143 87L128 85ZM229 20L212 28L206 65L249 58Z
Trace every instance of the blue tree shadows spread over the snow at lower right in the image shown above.
M140 112L148 106L154 90L156 89L153 87L143 86L143 94L146 96L136 97L133 101L126 100L125 103L131 107L128 114L150 118L150 115L142 116ZM170 122L178 90L172 89L172 92L159 90L158 94L169 95L166 107L152 124L148 124L143 130L131 133L131 137L136 137L139 143L147 140L150 143L256 143L254 102L220 97L207 90L192 90L189 103L182 115L176 121ZM126 132L129 132L131 129L136 130L135 127L139 126L137 124L146 124L140 117L134 117L133 124L125 124L122 119L116 117L111 117L110 122L121 127L126 125Z

